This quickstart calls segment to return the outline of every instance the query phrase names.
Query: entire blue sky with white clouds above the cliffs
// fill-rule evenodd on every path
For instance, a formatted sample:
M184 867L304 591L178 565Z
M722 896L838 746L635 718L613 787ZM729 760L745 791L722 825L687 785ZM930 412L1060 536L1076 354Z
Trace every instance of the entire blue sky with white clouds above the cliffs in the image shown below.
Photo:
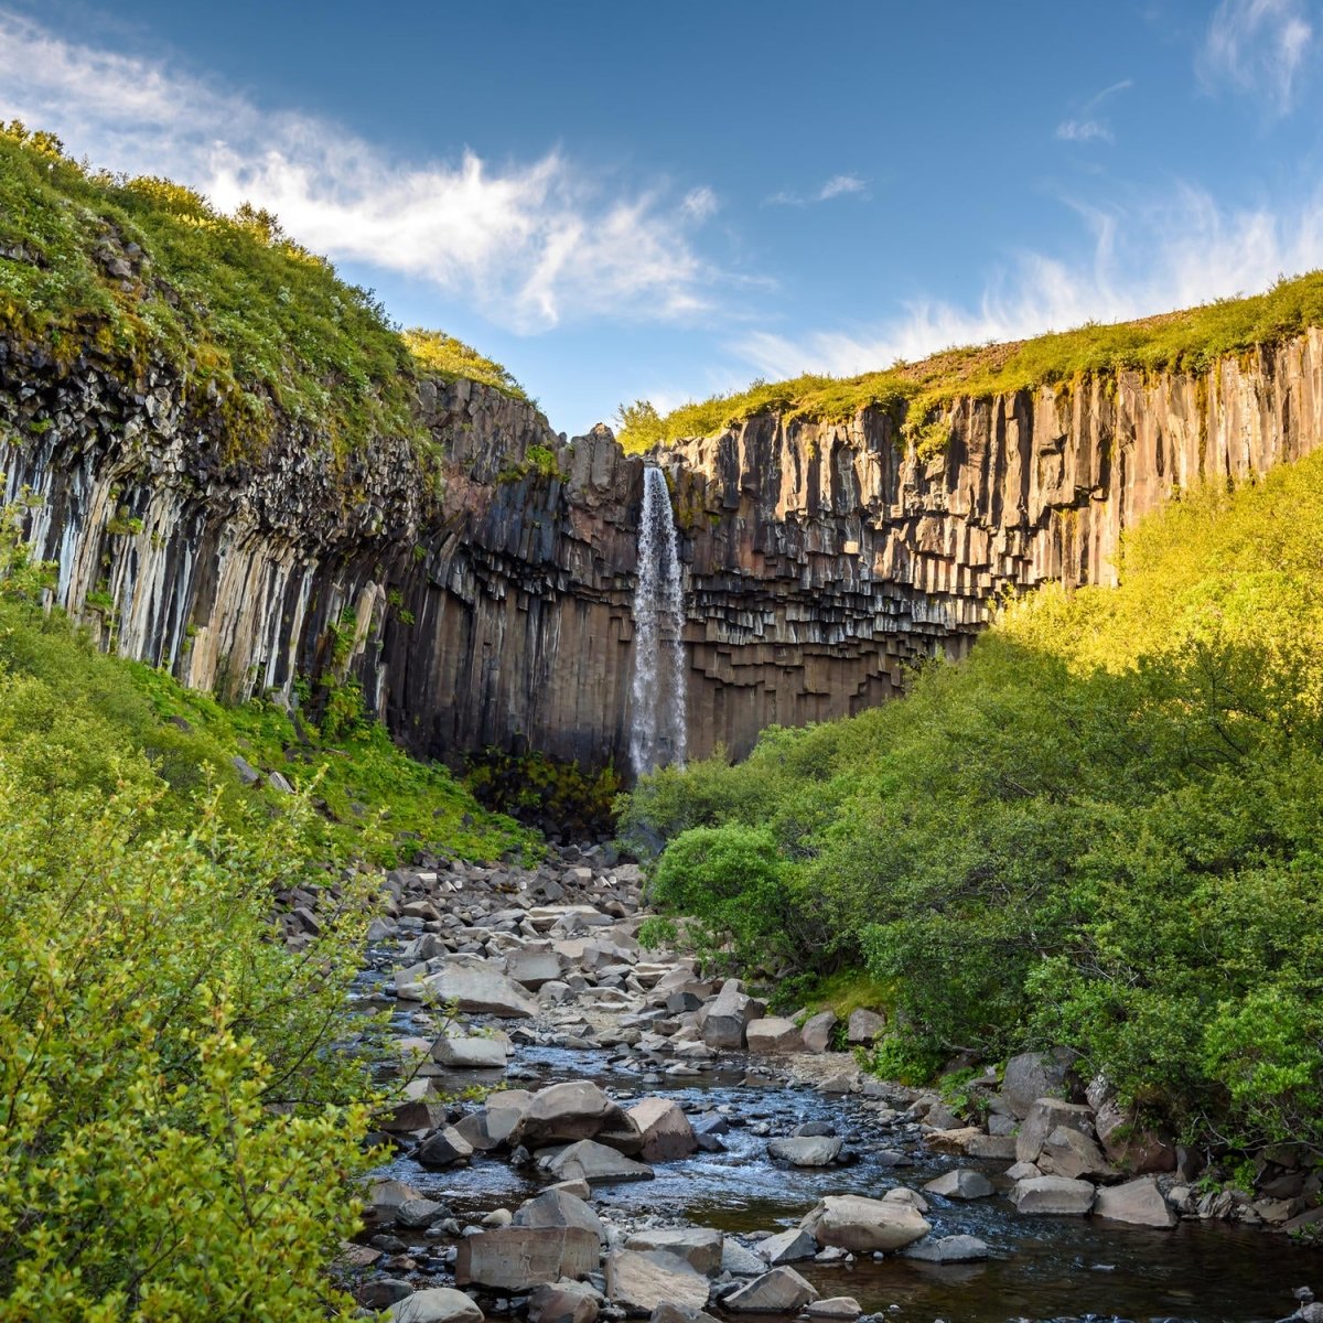
M553 425L1323 265L1308 0L0 0L0 114L249 198Z

